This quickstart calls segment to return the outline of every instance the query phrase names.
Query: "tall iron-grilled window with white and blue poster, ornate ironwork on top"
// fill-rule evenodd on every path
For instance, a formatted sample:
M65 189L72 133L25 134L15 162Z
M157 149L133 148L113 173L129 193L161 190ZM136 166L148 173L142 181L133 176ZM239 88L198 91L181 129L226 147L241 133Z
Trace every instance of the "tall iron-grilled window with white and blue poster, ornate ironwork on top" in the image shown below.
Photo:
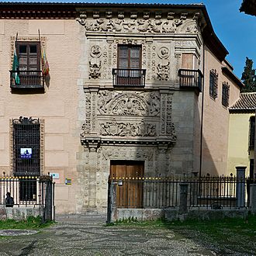
M13 175L40 175L40 121L12 120Z

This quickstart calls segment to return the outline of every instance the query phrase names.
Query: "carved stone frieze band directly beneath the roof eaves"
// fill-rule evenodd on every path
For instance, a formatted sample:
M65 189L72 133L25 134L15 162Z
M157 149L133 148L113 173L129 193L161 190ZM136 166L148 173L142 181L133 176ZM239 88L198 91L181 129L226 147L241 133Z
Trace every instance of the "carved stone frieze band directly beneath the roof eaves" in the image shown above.
M158 14L157 14L158 13ZM91 19L85 12L80 13L78 22L85 26L88 32L102 33L198 33L199 12L189 14L174 12L167 13L167 19L162 19L161 12L155 12L154 18L150 18L149 12L141 16L137 12L131 12L130 17L125 17L119 12L116 17L106 13L106 19L99 19L99 12L93 14ZM192 16L193 15L193 16ZM140 16L140 18L138 18Z

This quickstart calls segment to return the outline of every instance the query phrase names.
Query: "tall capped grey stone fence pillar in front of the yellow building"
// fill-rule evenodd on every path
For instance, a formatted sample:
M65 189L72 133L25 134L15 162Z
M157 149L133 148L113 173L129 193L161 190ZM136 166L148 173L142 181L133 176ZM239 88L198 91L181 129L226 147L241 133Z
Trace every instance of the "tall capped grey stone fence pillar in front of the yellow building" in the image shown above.
M237 207L245 206L245 169L246 166L237 166Z

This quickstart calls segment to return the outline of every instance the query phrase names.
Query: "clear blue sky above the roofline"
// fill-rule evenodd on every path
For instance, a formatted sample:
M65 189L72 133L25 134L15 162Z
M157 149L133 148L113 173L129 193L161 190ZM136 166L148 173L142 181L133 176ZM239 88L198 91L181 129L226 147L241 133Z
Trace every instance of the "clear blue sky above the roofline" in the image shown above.
M159 3L159 4L192 4L203 3L213 24L213 29L221 42L229 51L227 60L234 66L234 73L240 78L244 71L245 57L254 61L256 67L256 16L248 16L239 12L243 0L48 0L21 2L106 2L106 3ZM18 2L18 1L3 1Z

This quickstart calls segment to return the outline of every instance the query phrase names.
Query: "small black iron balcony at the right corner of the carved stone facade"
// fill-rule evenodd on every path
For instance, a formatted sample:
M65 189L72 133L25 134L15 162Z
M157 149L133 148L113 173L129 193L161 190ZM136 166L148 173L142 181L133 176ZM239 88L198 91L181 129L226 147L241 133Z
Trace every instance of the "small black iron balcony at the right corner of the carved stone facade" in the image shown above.
M180 69L178 71L179 86L182 88L195 88L202 92L202 72L192 69Z

